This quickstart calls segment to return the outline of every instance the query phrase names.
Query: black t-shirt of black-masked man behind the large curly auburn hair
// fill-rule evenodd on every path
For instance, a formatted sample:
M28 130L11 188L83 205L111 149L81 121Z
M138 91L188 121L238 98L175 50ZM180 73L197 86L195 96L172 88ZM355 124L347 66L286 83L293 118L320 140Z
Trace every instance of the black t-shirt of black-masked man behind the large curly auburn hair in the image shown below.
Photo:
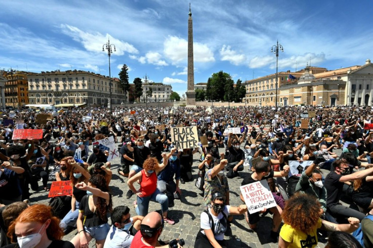
M336 205L340 202L343 184L340 182L340 178L343 175L338 175L335 172L330 172L325 177L324 187L326 188L327 198L326 198L326 206Z

